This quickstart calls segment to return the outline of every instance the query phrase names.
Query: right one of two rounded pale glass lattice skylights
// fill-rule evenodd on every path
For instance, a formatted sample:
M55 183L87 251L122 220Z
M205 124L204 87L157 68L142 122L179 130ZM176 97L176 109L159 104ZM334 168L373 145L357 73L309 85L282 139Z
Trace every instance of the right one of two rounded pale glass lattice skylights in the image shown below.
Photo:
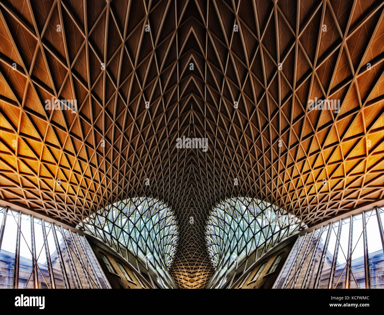
M215 283L257 249L261 257L280 240L304 229L293 215L256 199L233 198L221 202L210 214L207 244L214 265Z

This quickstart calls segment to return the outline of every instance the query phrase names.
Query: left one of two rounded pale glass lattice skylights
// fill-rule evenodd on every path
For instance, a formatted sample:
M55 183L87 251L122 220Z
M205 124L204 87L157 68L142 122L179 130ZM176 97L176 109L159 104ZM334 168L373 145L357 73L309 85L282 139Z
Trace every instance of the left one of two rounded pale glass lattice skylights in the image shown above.
M162 202L134 198L117 202L85 219L79 228L119 252L128 249L166 279L177 244L174 215Z

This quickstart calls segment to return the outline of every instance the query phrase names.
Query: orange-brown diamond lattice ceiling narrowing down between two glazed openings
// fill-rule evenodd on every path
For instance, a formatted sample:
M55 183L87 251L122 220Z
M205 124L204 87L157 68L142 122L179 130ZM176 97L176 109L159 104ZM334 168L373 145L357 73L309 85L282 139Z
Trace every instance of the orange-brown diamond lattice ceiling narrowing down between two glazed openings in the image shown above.
M1 0L1 201L75 226L156 198L178 227L170 275L205 287L225 199L307 225L382 199L383 14L357 0ZM341 108L309 110L316 97ZM208 150L178 149L182 136Z

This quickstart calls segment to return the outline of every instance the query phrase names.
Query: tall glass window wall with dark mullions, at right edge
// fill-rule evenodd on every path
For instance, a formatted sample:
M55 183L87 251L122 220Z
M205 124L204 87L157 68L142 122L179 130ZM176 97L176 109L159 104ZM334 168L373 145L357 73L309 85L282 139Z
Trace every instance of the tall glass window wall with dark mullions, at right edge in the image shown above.
M301 235L274 288L384 288L384 208Z

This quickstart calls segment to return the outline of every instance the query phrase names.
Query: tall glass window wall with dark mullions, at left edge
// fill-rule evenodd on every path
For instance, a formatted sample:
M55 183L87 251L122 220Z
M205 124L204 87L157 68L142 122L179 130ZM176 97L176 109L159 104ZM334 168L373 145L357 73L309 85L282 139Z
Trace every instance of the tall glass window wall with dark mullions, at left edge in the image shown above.
M109 288L83 235L0 208L0 288Z

